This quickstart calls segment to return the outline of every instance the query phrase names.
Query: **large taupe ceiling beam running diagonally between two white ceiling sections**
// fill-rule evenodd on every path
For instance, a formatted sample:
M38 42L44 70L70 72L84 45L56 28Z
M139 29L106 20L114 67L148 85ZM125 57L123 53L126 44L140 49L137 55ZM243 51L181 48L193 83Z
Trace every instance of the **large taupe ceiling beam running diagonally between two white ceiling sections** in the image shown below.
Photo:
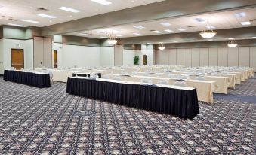
M209 12L230 11L255 6L255 0L168 0L45 26L42 28L42 35L61 35L109 26L186 17Z

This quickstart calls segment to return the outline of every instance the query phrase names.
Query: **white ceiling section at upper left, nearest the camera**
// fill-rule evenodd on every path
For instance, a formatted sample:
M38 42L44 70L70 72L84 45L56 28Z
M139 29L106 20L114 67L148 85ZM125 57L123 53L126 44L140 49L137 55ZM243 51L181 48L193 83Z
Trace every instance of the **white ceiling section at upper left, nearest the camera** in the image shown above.
M49 26L56 23L63 23L84 17L91 17L97 14L118 11L125 8L133 8L140 5L147 5L163 0L108 0L111 5L100 5L91 0L0 0L0 25L14 23L23 26ZM81 12L70 13L62 11L60 7L74 8ZM49 11L37 11L37 8L46 8ZM57 17L48 19L39 17L36 14L48 14ZM3 17L4 16L4 17ZM6 20L11 17L17 21ZM35 20L39 23L26 23L20 20ZM51 21L50 21L51 20Z

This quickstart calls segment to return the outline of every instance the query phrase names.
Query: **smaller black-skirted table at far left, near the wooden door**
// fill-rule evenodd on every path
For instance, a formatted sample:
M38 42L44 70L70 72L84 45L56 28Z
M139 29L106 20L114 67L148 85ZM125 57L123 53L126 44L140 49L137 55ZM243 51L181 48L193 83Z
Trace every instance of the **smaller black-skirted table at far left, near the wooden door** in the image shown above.
M4 80L39 88L51 87L48 73L5 70Z

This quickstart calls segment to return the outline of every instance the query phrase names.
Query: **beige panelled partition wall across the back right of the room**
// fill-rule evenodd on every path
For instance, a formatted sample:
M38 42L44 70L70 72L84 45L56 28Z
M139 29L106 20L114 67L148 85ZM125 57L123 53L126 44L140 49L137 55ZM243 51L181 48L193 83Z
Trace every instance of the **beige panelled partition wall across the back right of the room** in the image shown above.
M250 66L256 68L256 47L214 47L155 50L156 65Z

